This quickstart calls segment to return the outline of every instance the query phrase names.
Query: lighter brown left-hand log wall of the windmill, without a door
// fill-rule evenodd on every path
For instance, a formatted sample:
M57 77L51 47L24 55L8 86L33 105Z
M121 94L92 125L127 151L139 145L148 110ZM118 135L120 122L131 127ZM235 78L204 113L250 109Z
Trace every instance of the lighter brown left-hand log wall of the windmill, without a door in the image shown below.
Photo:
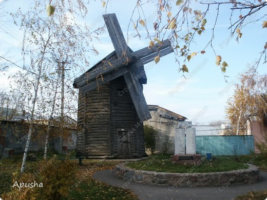
M80 92L78 125L84 130L86 157L110 155L109 91L107 83L98 90Z

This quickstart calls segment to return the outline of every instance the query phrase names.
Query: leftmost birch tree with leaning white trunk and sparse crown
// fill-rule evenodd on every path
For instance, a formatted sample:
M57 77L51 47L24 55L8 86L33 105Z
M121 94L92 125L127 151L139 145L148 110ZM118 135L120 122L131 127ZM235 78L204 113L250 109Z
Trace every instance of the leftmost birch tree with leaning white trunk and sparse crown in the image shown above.
M21 172L25 170L34 118L43 111L42 104L38 101L41 101L41 96L45 94L42 94L43 90L40 88L48 88L46 87L48 79L53 81L51 74L55 71L54 58L63 55L60 57L61 61L68 59L72 70L75 71L78 66L88 67L89 57L85 54L94 49L89 42L96 32L87 30L86 24L77 24L75 20L75 17L84 17L87 14L83 1L55 0L46 5L46 10L44 7L42 2L34 1L33 6L26 13L18 10L13 14L15 24L20 21L20 27L24 30L22 54L25 71L20 72L19 75L24 77L21 84L24 86L28 100L31 101L28 106L31 110L31 121ZM50 96L50 94L51 91L46 95ZM51 110L51 104L49 106Z

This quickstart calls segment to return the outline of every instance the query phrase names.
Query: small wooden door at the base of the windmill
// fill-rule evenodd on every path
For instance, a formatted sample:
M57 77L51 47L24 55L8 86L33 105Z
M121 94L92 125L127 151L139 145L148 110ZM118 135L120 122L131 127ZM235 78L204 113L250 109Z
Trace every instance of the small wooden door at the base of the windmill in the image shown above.
M127 135L128 131L118 131L118 155L130 155L129 154L129 138Z

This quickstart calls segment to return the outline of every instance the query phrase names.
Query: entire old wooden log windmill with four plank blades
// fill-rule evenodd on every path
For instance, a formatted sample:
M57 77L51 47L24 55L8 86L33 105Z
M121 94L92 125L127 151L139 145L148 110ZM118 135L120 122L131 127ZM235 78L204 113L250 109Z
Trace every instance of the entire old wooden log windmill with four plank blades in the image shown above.
M168 40L133 52L115 14L103 15L115 51L80 77L77 155L87 158L145 156L143 121L151 118L143 94L144 65L173 49Z

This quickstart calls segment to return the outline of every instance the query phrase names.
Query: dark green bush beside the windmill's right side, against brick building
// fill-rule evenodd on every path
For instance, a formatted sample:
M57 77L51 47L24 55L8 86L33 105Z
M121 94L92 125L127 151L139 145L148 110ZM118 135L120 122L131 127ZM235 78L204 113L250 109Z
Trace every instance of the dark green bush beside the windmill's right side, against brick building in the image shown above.
M151 126L144 126L145 148L148 149L152 154L154 154L156 149L156 135L156 129Z

